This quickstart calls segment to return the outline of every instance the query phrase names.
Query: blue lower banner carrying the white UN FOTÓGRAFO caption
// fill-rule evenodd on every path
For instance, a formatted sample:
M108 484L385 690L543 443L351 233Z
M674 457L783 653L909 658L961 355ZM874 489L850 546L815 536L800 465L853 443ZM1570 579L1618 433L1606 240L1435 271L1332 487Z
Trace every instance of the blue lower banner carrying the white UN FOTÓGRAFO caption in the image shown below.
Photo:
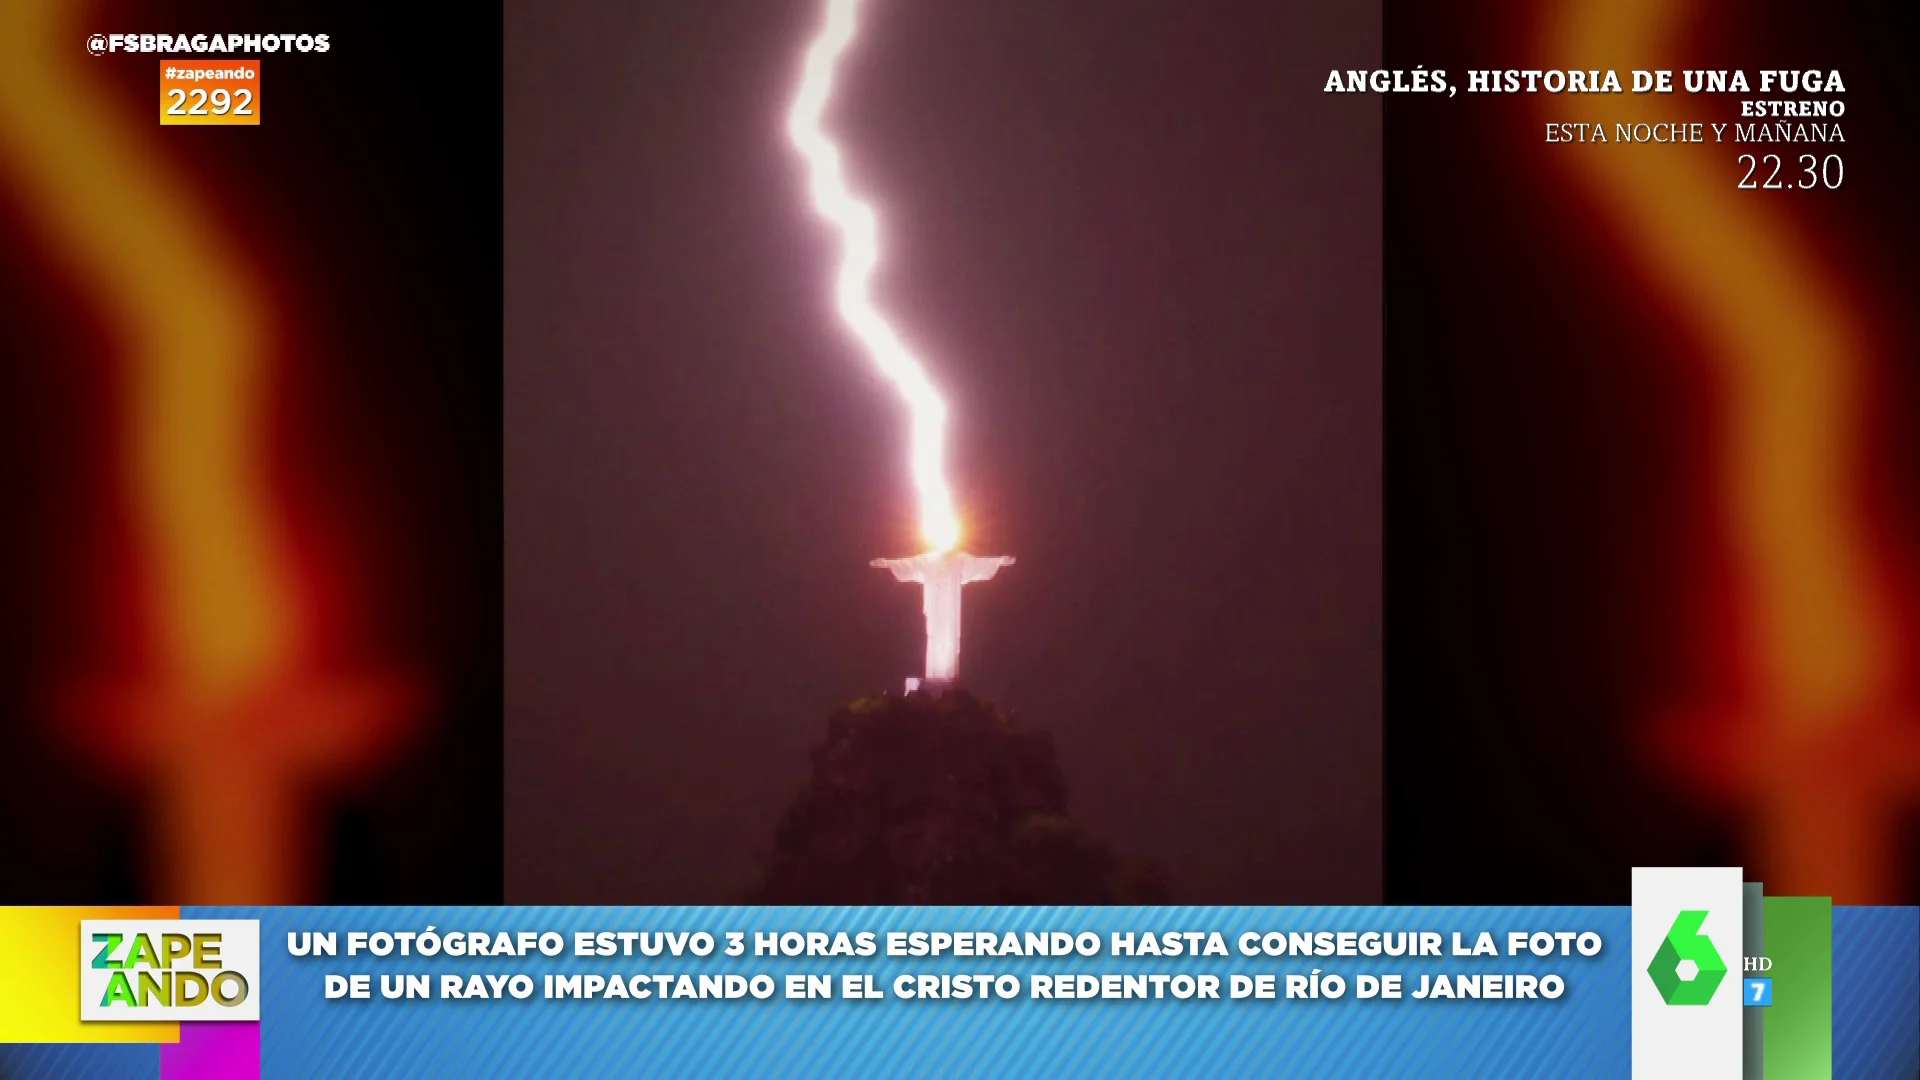
M1628 1076L1653 978L1628 907L182 907L86 930L67 986L90 1015L177 1042L0 1045L0 1076ZM1834 1076L1920 1067L1916 961L1920 911L1834 911Z

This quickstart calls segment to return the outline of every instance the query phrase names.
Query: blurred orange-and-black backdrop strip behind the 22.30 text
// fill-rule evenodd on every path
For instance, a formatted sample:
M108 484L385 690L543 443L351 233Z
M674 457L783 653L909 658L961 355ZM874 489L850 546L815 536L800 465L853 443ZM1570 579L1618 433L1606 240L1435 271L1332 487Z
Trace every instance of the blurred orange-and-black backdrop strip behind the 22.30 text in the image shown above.
M1738 863L1768 892L1912 901L1916 338L1895 256L1912 238L1912 94L1897 35L1868 6L1780 2L1388 13L1390 58L1461 83L1455 102L1388 106L1390 550L1425 540L1428 567L1473 565L1471 586L1396 594L1417 555L1390 557L1388 698L1398 663L1402 705L1432 705L1411 721L1390 705L1405 732L1390 784L1411 807L1442 786L1415 767L1423 751L1440 771L1476 759L1528 819L1476 798L1427 822L1402 809L1390 894L1457 896L1480 874L1596 897L1624 892L1624 865ZM1676 86L1684 69L1818 67L1847 88L1467 98L1471 67L1668 69ZM1549 121L1734 123L1743 98L1830 96L1847 110L1839 144L1544 140ZM1740 190L1741 152L1782 154L1793 177L1799 154L1832 154L1845 181ZM1411 730L1459 713L1452 748ZM1450 867L1442 846L1463 832L1553 849Z

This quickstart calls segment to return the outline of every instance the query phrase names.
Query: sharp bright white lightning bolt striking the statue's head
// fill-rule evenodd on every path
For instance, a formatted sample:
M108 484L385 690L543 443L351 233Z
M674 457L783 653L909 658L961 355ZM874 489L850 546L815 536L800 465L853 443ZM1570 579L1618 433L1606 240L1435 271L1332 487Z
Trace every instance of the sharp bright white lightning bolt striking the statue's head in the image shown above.
M910 465L914 490L920 496L920 532L935 552L947 552L960 544L960 519L945 475L947 402L941 400L920 357L874 306L870 282L879 263L879 221L874 208L847 188L839 148L820 127L828 98L833 94L833 67L852 42L858 8L860 0L828 0L826 25L806 50L801 92L793 100L793 111L787 113L787 135L806 158L814 209L841 234L841 267L835 279L841 319L906 398L912 417Z

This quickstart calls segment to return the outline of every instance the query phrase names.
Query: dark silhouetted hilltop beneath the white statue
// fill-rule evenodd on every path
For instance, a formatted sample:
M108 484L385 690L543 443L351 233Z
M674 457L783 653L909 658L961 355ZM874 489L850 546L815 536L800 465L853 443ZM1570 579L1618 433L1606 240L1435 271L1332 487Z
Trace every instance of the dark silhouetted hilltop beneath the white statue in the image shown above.
M828 721L755 903L1165 903L1068 819L1054 742L966 690Z

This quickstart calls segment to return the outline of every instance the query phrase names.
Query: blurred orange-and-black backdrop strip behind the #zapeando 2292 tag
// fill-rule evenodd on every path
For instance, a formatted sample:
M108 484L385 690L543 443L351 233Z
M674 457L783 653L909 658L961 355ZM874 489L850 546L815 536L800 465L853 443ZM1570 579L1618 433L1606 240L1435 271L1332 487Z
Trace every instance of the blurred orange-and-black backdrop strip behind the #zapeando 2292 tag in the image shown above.
M497 125L407 179L447 71L349 23L0 2L0 901L499 894ZM159 27L348 44L163 129L84 48Z

